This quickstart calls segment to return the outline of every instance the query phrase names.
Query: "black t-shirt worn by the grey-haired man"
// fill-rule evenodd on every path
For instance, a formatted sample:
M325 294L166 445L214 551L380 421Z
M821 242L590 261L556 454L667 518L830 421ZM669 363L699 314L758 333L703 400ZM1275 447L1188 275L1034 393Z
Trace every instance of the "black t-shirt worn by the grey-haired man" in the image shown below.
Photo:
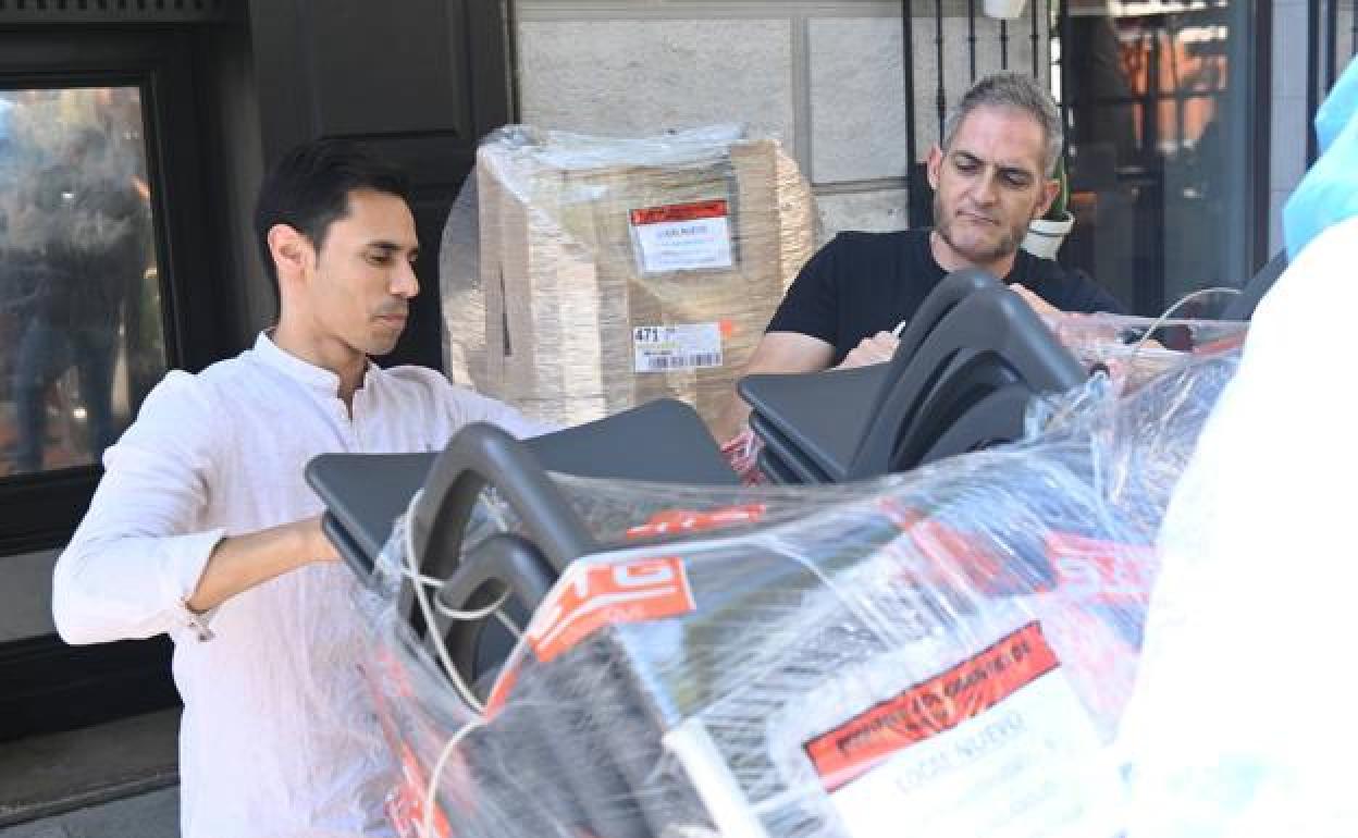
M801 269L767 330L820 338L835 348L831 363L838 364L862 338L913 318L944 276L928 230L841 232ZM1025 250L1004 283L1019 283L1062 311L1123 312L1084 273Z

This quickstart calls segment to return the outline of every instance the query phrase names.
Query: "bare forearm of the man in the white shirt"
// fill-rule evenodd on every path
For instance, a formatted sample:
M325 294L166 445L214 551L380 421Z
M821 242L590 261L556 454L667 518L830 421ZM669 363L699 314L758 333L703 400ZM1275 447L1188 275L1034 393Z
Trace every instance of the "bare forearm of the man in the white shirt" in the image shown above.
M276 576L334 558L334 547L320 532L319 517L224 538L212 550L185 604L201 614Z

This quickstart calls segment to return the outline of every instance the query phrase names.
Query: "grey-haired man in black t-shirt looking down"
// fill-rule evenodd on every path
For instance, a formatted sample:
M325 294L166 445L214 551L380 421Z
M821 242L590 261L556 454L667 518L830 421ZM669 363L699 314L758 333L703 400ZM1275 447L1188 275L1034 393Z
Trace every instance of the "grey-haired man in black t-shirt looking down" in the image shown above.
M898 327L947 273L980 268L1039 312L1122 306L1078 272L1019 249L1061 189L1061 115L1035 80L997 73L963 96L929 152L933 230L835 236L801 269L746 374L815 372L891 359ZM718 433L748 409L736 398Z

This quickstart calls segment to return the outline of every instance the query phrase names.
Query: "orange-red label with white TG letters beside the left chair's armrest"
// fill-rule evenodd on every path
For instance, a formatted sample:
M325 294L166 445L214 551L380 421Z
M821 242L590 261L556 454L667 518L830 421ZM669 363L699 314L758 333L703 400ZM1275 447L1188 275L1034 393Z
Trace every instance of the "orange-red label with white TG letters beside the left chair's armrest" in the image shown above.
M549 663L603 626L664 619L694 607L678 557L576 564L538 607L526 637L538 660Z

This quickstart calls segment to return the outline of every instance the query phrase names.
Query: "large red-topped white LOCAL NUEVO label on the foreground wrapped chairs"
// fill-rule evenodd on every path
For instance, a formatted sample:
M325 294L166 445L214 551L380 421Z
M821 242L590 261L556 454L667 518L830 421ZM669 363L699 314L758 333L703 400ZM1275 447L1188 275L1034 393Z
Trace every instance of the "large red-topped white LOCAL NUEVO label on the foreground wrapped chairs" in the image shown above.
M804 747L854 838L1116 831L1116 771L1036 622Z

